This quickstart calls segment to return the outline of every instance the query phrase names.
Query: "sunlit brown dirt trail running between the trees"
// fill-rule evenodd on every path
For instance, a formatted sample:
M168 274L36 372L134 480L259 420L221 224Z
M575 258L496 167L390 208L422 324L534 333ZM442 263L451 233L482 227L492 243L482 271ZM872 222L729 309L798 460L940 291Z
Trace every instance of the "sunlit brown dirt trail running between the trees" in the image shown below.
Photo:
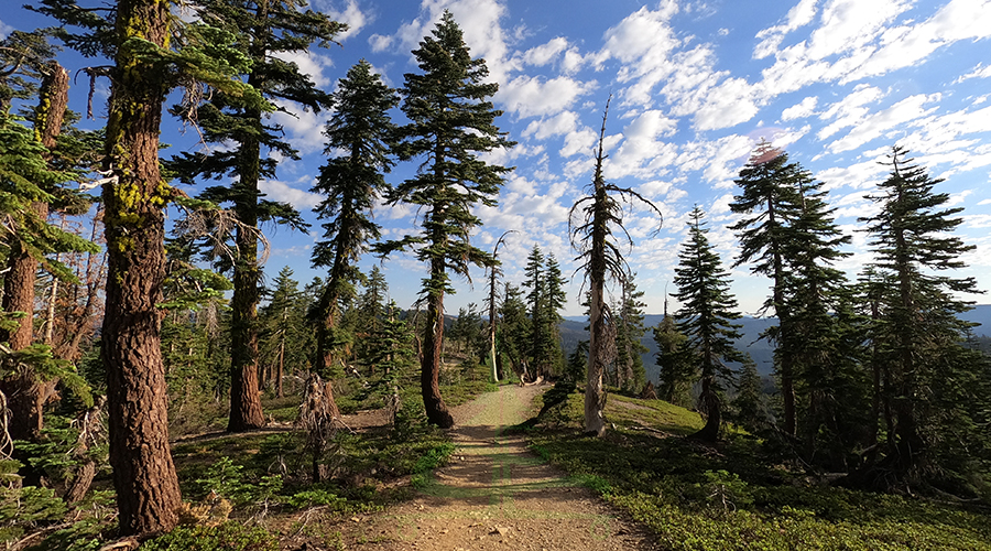
M530 417L544 388L502 387L456 408L458 450L416 499L382 515L356 517L348 549L633 550L650 536L591 491L531 454L505 426Z

